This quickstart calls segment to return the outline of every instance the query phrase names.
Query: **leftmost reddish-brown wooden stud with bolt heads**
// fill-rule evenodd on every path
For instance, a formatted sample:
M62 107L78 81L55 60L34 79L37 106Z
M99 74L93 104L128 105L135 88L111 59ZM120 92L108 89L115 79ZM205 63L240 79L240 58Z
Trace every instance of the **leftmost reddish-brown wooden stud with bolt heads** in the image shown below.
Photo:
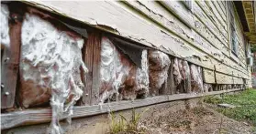
M12 24L9 25L10 46L4 49L1 63L1 108L14 107L17 88L22 26L22 22L17 18L22 18L22 16L15 13L11 13L10 16L13 19Z

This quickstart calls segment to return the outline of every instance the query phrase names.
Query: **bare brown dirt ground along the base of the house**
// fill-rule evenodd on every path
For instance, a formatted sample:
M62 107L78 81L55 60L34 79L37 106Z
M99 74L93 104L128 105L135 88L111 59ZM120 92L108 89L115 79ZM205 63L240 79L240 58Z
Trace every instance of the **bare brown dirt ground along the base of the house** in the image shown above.
M143 134L256 134L256 128L243 121L228 119L218 113L216 106L208 104L191 108L179 108L182 103L162 105L145 112L139 121ZM172 110L170 110L172 109ZM128 118L128 113L121 113ZM111 119L101 119L95 125L78 127L70 134L106 134L109 132ZM92 124L92 123L88 123ZM86 125L85 125L86 126ZM119 134L142 134L139 132L119 132Z

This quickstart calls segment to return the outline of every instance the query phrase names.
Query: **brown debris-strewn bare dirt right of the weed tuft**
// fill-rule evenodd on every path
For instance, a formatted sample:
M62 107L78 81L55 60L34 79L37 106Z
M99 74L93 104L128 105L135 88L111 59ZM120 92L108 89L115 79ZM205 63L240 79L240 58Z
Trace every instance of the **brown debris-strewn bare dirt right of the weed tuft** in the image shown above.
M148 134L253 133L248 123L228 119L206 106L182 109L164 115L152 113L149 118L141 120L140 127L146 129Z

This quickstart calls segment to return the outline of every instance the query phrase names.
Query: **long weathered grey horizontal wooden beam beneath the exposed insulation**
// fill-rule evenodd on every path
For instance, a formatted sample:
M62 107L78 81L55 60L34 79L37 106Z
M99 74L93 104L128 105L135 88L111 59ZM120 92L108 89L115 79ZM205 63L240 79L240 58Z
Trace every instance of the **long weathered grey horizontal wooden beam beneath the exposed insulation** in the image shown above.
M206 93L190 93L190 94L175 94L175 95L163 95L152 98L117 101L111 103L105 103L102 105L94 106L79 106L73 108L72 119L83 118L88 116L94 116L98 114L108 113L110 111L118 111L129 108L145 107L153 104L169 102L173 100L187 99L187 98L200 98L208 95L217 95L228 92L239 91L241 88L234 88L221 91L212 91ZM66 119L67 114L64 114L61 119ZM51 109L26 109L22 111L15 111L10 113L1 114L1 129L11 129L22 125L31 125L50 122L51 120Z

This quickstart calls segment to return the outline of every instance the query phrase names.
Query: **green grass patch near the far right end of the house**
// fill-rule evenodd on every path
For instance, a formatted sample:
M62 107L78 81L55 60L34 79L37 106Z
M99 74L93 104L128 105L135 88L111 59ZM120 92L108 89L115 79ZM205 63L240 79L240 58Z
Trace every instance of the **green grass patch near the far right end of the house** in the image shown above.
M237 106L236 108L217 108L231 119L246 120L256 126L256 89L247 89L236 95L223 95L221 98L206 97L206 103L219 104L228 103Z

